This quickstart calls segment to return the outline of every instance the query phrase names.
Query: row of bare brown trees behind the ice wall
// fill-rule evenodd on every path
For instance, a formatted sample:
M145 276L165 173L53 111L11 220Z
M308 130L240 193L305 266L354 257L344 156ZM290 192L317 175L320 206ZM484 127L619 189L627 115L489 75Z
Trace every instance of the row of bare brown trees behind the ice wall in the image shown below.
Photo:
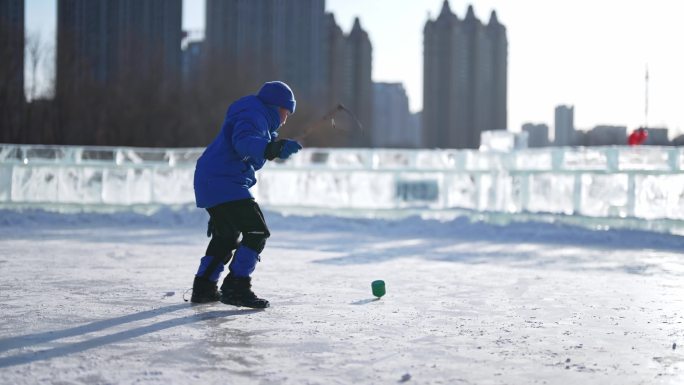
M30 104L26 141L46 144L144 147L206 146L218 134L228 106L255 94L264 81L278 79L278 68L254 57L204 58L193 81L181 83L163 70L165 58L135 39L115 52L109 77L96 77L95 66L69 44L68 31L59 38L53 99L41 99L36 79L47 58L40 36L26 42ZM144 52L141 56L138 53ZM265 60L263 58L259 60ZM257 70L258 69L258 70ZM281 79L287 82L288 79ZM42 89L43 87L41 87ZM294 87L296 93L296 86ZM325 100L334 100L330 96ZM337 105L321 110L320 100L298 95L297 113L282 136L306 146L347 145L354 120ZM331 114L332 112L332 114ZM329 115L329 116L328 116ZM332 124L332 119L335 124Z

